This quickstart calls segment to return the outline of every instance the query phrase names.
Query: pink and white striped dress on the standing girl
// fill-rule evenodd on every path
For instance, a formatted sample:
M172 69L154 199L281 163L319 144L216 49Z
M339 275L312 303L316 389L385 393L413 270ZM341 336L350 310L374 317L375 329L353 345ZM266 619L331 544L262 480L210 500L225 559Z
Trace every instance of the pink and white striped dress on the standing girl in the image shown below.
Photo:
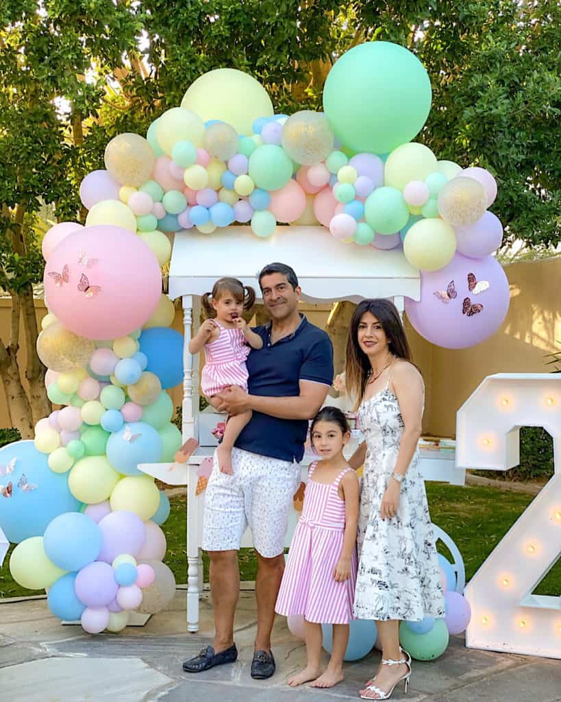
M312 479L316 465L309 470L302 517L292 537L275 611L285 616L303 614L307 621L321 624L348 624L354 618L356 549L349 580L337 583L333 574L345 531L345 502L337 488L352 468L342 470L335 482L323 484Z

